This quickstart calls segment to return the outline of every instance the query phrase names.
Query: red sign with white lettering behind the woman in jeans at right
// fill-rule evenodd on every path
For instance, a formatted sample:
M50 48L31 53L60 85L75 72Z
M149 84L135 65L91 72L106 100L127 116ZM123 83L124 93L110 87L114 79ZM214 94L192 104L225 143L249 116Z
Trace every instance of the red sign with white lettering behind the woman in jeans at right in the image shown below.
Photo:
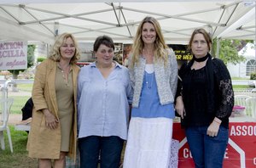
M173 125L173 138L179 141L178 167L195 167L180 123ZM230 167L256 167L256 122L230 122L230 138L224 154L224 168Z

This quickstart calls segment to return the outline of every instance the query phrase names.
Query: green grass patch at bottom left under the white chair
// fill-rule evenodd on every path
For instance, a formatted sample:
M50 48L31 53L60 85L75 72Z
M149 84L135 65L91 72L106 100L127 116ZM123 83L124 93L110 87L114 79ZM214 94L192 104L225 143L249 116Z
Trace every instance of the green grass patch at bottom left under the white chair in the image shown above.
M7 133L4 132L5 150L0 148L0 167L1 168L36 168L38 161L28 158L26 151L27 133L15 131L14 126L10 126L14 153L10 152Z

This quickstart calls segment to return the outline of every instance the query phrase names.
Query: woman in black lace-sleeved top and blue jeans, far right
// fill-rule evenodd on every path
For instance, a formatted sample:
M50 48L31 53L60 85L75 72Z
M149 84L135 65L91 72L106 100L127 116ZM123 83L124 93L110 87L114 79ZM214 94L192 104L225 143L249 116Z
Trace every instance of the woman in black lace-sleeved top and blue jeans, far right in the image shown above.
M193 59L179 71L176 110L182 118L195 167L219 167L229 139L229 117L234 105L230 73L209 53L212 40L196 29L189 41Z

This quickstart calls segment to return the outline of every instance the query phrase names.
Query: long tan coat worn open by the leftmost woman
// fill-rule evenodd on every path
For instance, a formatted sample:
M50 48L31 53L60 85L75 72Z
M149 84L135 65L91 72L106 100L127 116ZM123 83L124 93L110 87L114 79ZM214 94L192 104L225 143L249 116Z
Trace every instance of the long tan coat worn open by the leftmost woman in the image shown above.
M29 132L26 149L28 156L39 159L59 159L61 151L61 126L50 130L45 126L42 109L49 109L58 118L58 105L55 93L55 74L57 63L47 59L38 65L32 88L34 103L32 112L32 126ZM70 139L69 156L75 158L77 145L77 78L79 67L72 65L73 73L73 133Z

